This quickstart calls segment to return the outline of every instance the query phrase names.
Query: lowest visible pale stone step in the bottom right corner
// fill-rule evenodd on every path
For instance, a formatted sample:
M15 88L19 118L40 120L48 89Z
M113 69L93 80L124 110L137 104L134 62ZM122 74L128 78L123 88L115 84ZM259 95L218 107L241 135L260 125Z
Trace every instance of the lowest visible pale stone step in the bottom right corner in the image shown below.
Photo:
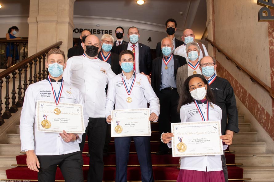
M251 178L251 181L274 181L273 166L242 166L244 178Z

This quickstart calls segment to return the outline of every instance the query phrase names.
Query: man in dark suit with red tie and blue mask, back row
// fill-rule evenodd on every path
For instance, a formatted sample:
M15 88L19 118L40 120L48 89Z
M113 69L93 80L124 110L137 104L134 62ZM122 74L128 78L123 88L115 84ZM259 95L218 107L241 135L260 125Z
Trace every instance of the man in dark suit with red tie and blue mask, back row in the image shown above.
M136 27L130 27L127 31L128 43L116 47L116 54L123 50L131 50L135 56L134 70L137 73L149 75L151 72L151 53L150 47L139 43L139 30Z

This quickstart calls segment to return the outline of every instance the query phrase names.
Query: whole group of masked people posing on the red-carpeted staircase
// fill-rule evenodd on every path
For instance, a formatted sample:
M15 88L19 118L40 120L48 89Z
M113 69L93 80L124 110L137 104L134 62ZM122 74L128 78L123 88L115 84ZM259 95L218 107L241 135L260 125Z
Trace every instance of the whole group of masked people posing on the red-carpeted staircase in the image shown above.
M210 117L204 121L221 121L224 149L232 144L233 133L239 132L233 88L228 80L216 76L216 60L208 56L203 44L194 41L193 31L186 29L179 41L176 27L174 19L166 21L167 37L157 43L154 60L150 47L139 42L139 30L134 26L127 31L129 42L123 40L120 26L115 30L116 41L108 34L99 40L83 30L79 45L68 50L67 61L59 49L48 52L49 76L27 88L20 120L21 149L27 154L28 168L38 172L38 181L54 181L57 165L65 181L83 181L82 152L87 135L87 181L101 182L114 108L147 108L149 103L149 120L159 122L162 141L156 155L167 154L171 147L174 135L170 123L202 121L206 110ZM130 102L125 99L129 96ZM59 102L83 104L85 133L38 132L38 100L54 101L56 108ZM190 110L195 113L189 114ZM153 182L150 136L115 137L115 181L127 181L131 139L142 181ZM178 182L228 181L224 155L181 157L180 169Z

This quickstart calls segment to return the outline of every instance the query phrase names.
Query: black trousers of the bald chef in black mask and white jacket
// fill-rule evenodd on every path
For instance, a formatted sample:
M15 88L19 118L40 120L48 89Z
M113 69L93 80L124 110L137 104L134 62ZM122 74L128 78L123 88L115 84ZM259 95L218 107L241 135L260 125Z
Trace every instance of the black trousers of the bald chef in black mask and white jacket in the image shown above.
M106 138L106 118L88 118L87 137L90 162L88 182L102 182L104 172L103 149Z

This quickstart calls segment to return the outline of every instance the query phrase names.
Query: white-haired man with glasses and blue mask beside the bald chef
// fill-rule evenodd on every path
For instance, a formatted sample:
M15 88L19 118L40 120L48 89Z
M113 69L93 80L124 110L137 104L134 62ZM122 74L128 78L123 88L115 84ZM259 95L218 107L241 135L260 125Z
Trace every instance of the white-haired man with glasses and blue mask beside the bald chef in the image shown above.
M109 34L104 34L101 37L102 50L98 54L98 58L111 65L112 71L118 75L122 72L119 65L119 55L111 52L111 48L114 44L114 38Z

